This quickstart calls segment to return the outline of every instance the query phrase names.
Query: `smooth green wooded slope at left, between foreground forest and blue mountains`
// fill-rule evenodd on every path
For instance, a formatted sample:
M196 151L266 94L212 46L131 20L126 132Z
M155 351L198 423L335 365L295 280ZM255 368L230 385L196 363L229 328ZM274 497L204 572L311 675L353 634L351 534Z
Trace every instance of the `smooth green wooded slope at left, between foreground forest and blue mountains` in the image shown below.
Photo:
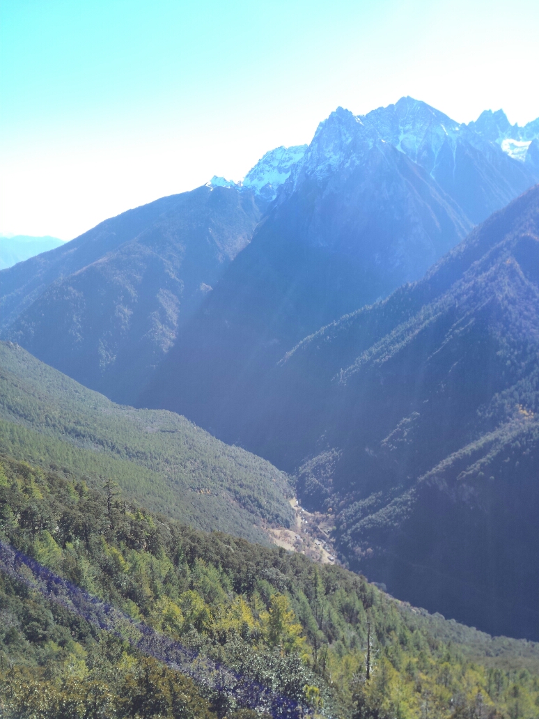
M184 417L118 406L0 343L0 451L85 475L208 531L268 542L262 521L288 525L287 477Z

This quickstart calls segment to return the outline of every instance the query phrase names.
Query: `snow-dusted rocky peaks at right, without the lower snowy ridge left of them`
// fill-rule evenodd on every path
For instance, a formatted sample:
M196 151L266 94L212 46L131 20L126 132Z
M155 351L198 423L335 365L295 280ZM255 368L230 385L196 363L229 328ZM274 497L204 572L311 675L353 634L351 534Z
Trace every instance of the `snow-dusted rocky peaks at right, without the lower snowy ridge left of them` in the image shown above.
M366 115L338 107L318 125L292 168L280 203L305 183L337 191L354 174L369 175L379 163L397 162L395 151L409 158L416 172L425 170L438 191L476 224L538 181L539 120L520 128L511 126L503 111L487 111L476 123L460 124L409 96Z

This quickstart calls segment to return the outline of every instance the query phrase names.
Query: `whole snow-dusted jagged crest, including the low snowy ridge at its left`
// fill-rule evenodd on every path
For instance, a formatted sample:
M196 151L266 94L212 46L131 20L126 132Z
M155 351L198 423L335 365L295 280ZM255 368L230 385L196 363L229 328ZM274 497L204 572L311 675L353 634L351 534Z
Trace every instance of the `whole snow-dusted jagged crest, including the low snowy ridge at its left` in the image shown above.
M485 110L475 122L461 124L426 102L406 96L365 115L354 115L339 106L318 125L310 145L276 147L266 152L243 181L236 183L214 176L208 186L247 188L264 201L275 200L277 191L286 186L281 197L281 201L285 201L305 181L321 186L338 175L341 182L369 161L373 148L380 148L384 143L425 169L466 210L472 222L482 221L496 209L492 203L477 206L478 202L482 204L480 197L466 203L459 194L462 192L469 198L478 194L471 191L471 186L484 177L485 168L479 165L486 159L502 176L520 173L513 162L505 166L507 157L530 168L533 176L522 183L516 180L522 185L521 191L536 181L535 175L539 173L539 119L519 127L510 124L503 110ZM467 165L466 177L459 180L460 191L456 186L457 165ZM491 172L492 168L487 170L488 174ZM471 175L476 178L472 179ZM479 196L481 194L479 190ZM512 191L505 191L497 206L514 195Z

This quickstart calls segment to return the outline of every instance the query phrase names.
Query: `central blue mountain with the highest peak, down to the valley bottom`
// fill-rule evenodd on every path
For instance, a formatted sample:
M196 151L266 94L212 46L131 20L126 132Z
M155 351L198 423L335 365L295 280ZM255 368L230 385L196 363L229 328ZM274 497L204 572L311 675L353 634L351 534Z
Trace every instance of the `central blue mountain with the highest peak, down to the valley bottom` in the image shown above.
M139 403L264 452L245 417L288 349L420 278L538 179L493 139L411 98L366 116L339 108Z

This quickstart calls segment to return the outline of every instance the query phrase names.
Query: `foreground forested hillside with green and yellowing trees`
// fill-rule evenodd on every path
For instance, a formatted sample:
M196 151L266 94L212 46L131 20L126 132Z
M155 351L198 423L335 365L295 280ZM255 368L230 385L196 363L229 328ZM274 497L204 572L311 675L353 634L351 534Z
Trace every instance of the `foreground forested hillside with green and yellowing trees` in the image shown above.
M275 716L293 702L355 719L537 716L538 645L415 610L340 567L195 531L74 473L1 457L0 540L6 719L254 719L234 681L270 687ZM6 564L13 549L23 554ZM121 610L123 629L70 610L64 585L109 616ZM193 681L144 656L138 626L147 652L150 639L176 642L236 679L216 689L210 675Z

